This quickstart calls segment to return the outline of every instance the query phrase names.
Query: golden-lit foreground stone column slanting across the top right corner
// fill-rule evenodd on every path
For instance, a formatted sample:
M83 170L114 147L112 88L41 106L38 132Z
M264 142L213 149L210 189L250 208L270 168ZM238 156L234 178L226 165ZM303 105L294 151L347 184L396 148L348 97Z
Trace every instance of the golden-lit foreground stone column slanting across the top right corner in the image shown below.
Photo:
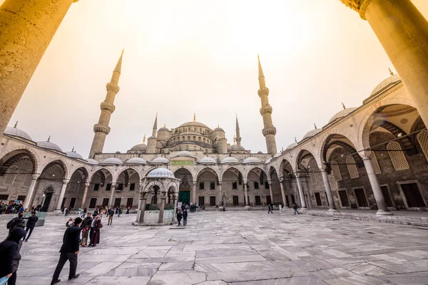
M428 125L428 22L410 0L342 0L367 19Z

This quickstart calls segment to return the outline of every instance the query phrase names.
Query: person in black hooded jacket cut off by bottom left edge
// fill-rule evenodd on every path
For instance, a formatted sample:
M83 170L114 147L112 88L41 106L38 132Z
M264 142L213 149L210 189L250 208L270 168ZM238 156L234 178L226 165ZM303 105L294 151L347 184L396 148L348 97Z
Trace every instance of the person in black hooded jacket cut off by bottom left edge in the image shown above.
M16 281L16 269L18 269L16 258L18 255L19 259L21 259L19 244L21 242L22 245L21 239L24 237L24 234L26 234L25 229L17 226L11 231L9 237L4 242L0 242L0 278L8 276L8 284L15 284L14 281Z

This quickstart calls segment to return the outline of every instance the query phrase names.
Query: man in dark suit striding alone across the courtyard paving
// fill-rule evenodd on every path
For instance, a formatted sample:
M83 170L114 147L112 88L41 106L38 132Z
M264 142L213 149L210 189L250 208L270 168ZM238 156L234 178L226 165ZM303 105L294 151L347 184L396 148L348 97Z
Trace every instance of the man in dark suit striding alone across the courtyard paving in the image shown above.
M59 252L61 252L58 260L58 265L56 265L56 269L54 272L54 276L52 276L51 285L57 284L61 279L59 278L59 274L61 274L61 270L63 269L66 261L70 261L70 271L68 273L68 280L77 278L80 274L76 274L77 269L77 254L78 254L78 245L80 242L80 234L82 228L80 224L82 219L77 217L74 219L74 225L68 227L63 237L63 244Z

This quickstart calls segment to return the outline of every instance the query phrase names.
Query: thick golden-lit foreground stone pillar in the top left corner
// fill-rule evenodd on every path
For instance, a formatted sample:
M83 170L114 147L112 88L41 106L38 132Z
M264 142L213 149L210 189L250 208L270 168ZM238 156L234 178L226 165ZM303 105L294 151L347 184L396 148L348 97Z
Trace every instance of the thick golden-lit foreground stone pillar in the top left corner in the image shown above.
M72 3L6 0L0 6L0 135Z

